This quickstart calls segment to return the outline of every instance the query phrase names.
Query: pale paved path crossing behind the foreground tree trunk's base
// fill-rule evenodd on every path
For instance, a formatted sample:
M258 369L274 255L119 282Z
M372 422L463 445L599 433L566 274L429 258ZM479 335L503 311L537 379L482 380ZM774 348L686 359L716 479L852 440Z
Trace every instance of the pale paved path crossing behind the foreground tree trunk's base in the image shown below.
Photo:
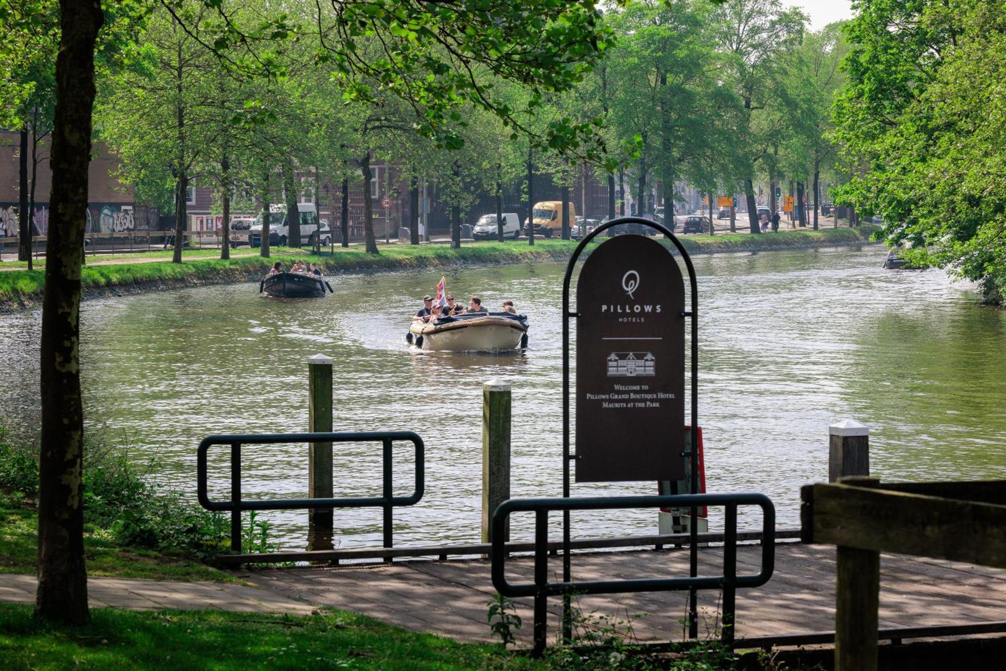
M0 602L34 603L34 576L0 574ZM154 611L216 609L234 613L289 613L310 615L316 606L271 590L225 583L183 583L135 578L90 578L88 597L92 608Z

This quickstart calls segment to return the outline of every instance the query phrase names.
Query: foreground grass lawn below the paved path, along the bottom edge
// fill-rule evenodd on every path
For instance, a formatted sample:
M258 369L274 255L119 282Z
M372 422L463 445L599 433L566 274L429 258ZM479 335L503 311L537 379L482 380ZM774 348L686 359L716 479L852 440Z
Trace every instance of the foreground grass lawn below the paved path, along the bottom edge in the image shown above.
M466 645L324 612L307 618L220 612L92 611L79 629L0 604L4 669L544 669L499 646Z

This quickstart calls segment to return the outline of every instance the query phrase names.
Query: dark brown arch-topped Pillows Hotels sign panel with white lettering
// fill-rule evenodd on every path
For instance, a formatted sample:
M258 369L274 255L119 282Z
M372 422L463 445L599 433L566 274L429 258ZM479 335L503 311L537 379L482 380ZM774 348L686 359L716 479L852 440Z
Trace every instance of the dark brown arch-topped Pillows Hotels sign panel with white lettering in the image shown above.
M619 235L576 284L576 481L684 477L684 281L663 245Z

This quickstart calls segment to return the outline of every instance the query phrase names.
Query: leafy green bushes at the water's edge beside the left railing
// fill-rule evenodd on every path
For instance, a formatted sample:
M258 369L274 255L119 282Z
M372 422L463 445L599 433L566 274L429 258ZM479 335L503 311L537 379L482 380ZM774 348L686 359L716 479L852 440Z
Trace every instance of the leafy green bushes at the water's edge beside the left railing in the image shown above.
M156 462L138 467L129 450L94 431L85 447L83 520L107 529L119 544L150 547L208 561L228 546L228 520L219 512L161 491L146 478ZM127 441L123 441L126 443ZM10 440L0 428L0 486L38 494L38 447Z

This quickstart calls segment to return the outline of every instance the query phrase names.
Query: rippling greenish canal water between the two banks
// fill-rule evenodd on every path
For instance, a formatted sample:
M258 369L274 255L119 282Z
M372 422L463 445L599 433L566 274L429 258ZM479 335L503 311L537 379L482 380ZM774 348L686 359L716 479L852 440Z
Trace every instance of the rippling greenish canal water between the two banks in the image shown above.
M886 271L882 247L695 258L700 294L699 418L712 492L761 491L780 527L799 525L799 488L827 478L828 425L869 425L884 479L1006 477L1006 311L943 272ZM254 284L96 300L82 312L90 426L156 458L158 481L195 498L195 447L211 433L302 431L308 357L335 361L338 431L410 429L427 445L427 493L395 511L395 543L479 537L482 384L513 385L513 496L561 493L564 265L448 271L449 289L505 298L530 317L521 354L428 353L404 334L439 270L340 276L324 300L263 298ZM35 416L39 314L0 317L0 420ZM244 450L245 497L306 495L303 445ZM226 495L227 459L211 460ZM396 491L411 454L395 453ZM380 493L378 445L343 445L336 495ZM655 483L573 485L575 494L654 493ZM718 517L712 511L711 527ZM302 547L306 514L268 517ZM558 520L556 519L556 522ZM577 514L573 535L656 532L653 511ZM760 524L754 512L741 526ZM342 547L380 544L380 512L336 512ZM515 520L527 536L530 518ZM555 529L557 532L557 528Z

